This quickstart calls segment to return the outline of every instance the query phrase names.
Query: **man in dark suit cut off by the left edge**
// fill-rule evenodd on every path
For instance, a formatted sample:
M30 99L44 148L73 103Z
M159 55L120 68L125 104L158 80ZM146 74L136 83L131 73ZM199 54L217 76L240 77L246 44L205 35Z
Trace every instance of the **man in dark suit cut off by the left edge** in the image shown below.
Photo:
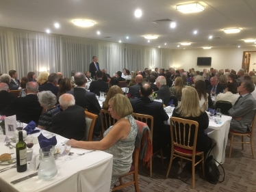
M0 113L1 111L3 111L3 109L8 107L8 105L14 98L17 97L18 96L16 96L15 94L10 94L8 84L0 83Z

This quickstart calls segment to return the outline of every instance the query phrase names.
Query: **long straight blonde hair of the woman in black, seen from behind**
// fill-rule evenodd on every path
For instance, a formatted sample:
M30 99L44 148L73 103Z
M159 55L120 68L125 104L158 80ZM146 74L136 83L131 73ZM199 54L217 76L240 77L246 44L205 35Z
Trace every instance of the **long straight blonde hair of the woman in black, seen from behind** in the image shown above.
M203 110L199 106L199 94L194 87L185 86L182 90L181 104L176 108L176 113L183 118L199 117Z

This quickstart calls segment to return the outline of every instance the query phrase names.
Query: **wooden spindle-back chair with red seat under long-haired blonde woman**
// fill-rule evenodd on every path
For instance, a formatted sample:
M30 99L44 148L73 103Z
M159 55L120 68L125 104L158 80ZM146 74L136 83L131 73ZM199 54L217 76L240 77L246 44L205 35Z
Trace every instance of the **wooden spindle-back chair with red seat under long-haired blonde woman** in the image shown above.
M191 130L194 130L194 143L190 143L190 140L192 140ZM192 161L192 189L194 189L194 169L195 166L198 165L200 162L202 162L203 176L205 176L204 152L196 151L196 139L198 131L198 122L170 117L170 136L172 148L166 178L168 178L168 175L170 173L172 160L176 157L181 158L181 168L183 159ZM201 160L195 162L196 156L201 156Z

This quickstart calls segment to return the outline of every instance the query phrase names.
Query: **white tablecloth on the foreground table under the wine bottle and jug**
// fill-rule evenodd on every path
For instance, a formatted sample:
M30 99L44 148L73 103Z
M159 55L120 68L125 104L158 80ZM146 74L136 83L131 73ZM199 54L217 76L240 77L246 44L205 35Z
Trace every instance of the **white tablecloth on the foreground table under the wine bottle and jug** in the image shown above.
M41 131L44 136L51 133ZM39 135L36 133L35 135ZM62 144L66 138L56 135L57 145ZM15 143L13 143L15 145ZM34 145L34 154L38 154L39 144ZM18 184L10 184L12 180L33 174L34 170L27 169L26 172L18 173L16 169L0 173L0 191L110 191L110 183L112 178L113 156L102 151L95 151L79 156L76 153L82 153L90 150L79 148L71 148L74 155L71 161L64 161L65 156L59 156L55 163L57 165L57 175L51 180L40 180L38 176L29 178ZM4 143L0 143L0 154L9 152L10 150ZM15 165L15 164L12 164ZM5 165L6 166L6 165ZM4 166L0 166L2 169Z

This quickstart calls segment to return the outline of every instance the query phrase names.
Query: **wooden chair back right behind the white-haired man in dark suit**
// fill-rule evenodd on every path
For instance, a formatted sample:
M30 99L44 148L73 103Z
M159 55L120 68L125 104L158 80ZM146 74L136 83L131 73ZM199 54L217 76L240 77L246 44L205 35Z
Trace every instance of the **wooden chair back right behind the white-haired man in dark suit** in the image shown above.
M88 111L84 111L84 113L86 115L86 141L92 141L93 129L94 129L95 122L98 118L98 115L95 115Z

